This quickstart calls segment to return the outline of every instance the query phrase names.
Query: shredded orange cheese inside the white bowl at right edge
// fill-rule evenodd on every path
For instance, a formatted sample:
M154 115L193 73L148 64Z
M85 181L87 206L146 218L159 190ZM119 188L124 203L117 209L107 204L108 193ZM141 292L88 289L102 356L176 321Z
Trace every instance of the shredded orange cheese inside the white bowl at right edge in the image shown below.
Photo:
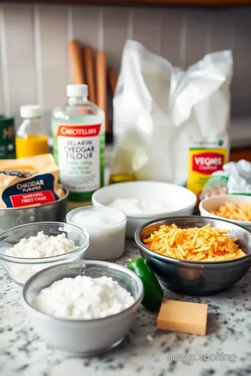
M225 203L217 210L211 210L211 214L218 215L226 219L234 219L234 221L251 221L251 205Z

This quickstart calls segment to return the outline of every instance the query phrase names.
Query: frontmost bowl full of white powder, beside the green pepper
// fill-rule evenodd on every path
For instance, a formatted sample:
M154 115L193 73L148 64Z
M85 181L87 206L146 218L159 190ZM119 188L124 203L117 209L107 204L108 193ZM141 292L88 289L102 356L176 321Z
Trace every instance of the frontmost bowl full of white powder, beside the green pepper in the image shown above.
M121 343L143 295L141 279L126 267L81 260L32 276L24 285L22 303L41 339L87 356Z

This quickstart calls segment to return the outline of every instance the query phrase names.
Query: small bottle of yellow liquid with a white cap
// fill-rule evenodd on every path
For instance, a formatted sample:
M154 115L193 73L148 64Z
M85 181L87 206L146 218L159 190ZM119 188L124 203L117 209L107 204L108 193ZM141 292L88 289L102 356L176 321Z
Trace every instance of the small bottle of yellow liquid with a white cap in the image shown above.
M15 146L17 158L49 152L48 135L43 127L42 109L38 104L29 104L20 108L23 123L17 130Z

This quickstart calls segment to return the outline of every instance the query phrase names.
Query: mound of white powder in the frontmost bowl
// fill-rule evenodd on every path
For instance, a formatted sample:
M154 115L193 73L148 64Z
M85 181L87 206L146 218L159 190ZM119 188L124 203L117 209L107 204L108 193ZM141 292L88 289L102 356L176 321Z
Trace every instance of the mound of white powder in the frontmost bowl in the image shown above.
M130 292L111 277L76 276L41 290L33 307L56 318L91 320L119 313L134 302Z

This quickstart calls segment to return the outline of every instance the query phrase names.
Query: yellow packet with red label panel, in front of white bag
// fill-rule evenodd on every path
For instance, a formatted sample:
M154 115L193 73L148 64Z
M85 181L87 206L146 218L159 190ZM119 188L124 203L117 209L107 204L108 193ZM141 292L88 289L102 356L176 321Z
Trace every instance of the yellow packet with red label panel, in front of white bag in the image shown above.
M199 198L208 178L227 163L227 139L192 141L189 150L188 189Z

